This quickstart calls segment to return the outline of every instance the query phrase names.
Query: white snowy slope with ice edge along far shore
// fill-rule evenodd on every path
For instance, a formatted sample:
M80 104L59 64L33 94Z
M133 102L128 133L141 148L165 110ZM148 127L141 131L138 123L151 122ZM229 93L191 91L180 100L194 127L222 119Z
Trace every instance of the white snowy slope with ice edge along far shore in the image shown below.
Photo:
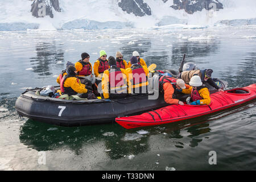
M154 27L167 24L191 24L213 26L220 20L256 18L255 0L218 0L223 4L219 11L202 10L188 14L184 10L174 10L174 3L168 0L144 0L151 9L151 15L135 16L123 11L121 0L59 0L61 12L53 9L54 18L32 16L31 1L0 0L0 30L41 30L56 29L104 29L127 27ZM85 23L89 22L89 23ZM23 23L20 28L17 23ZM6 28L8 27L8 28ZM18 27L18 28L17 28Z

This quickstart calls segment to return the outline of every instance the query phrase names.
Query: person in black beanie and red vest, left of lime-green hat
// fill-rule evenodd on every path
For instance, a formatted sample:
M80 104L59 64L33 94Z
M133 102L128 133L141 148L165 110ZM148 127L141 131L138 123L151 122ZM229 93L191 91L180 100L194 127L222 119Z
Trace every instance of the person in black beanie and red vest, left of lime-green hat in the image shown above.
M77 71L77 77L81 77L80 78L81 83L92 86L92 82L88 80L88 78L83 78L85 76L91 76L91 77L94 76L92 75L92 64L90 64L89 60L90 60L90 55L86 52L83 52L81 54L81 60L76 62L75 68Z

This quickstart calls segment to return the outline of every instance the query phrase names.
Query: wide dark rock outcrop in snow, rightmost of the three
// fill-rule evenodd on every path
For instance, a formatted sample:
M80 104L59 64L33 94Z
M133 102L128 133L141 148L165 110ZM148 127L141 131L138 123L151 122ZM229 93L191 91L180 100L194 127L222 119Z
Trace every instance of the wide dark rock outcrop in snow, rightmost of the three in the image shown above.
M185 10L188 14L193 14L203 9L214 11L223 9L222 3L218 2L218 0L174 0L174 5L171 7L175 10Z

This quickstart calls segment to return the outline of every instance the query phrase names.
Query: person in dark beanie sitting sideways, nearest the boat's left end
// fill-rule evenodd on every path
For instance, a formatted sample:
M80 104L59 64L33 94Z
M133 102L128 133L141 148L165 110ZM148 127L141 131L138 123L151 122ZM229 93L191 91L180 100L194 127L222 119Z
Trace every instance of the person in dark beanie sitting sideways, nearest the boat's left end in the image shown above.
M81 98L96 98L92 90L86 89L84 84L81 84L79 78L76 77L76 68L70 65L67 68L67 75L60 81L61 94L68 96L77 95Z

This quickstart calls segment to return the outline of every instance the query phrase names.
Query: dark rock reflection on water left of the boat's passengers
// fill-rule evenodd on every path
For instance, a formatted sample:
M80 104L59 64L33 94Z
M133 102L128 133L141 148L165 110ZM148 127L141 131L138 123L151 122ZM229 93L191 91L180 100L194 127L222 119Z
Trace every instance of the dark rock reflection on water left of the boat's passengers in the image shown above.
M61 45L59 45L61 46ZM38 73L39 76L52 75L51 68L57 68L64 65L64 51L58 48L53 43L38 43L36 44L36 57L31 57L30 62L33 72Z

